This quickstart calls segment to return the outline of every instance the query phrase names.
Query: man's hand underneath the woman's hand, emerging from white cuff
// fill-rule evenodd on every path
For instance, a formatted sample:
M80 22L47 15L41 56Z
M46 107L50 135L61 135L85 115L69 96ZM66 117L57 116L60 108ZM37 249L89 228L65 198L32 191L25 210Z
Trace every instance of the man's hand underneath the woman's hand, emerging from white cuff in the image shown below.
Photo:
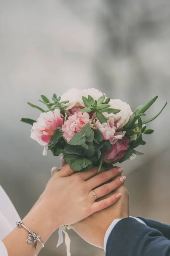
M129 196L127 189L122 185L119 189L112 192L112 194L114 193L122 194L122 197L116 204L102 211L95 212L88 218L71 225L73 230L85 241L100 248L103 248L105 233L113 220L129 217Z

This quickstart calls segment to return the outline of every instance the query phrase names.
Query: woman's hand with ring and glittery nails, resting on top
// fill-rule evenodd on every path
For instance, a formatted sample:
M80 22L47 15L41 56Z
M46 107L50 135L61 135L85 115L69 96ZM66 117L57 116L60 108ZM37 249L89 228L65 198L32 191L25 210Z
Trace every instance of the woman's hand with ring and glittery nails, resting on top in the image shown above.
M102 185L113 177L120 175L119 168L113 168L98 174L98 168L74 173L69 165L55 173L46 187L40 204L48 209L49 218L57 227L74 224L99 210L116 203L121 194L116 193L101 201L95 201L124 182L120 177ZM102 186L100 186L102 185ZM98 187L100 186L100 187Z

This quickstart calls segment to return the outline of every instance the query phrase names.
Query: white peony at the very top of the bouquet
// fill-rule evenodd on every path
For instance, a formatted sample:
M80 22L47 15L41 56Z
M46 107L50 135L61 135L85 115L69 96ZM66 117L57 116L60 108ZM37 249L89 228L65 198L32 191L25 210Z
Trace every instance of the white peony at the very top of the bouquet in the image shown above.
M88 95L93 97L95 100L99 99L103 93L95 88L89 88L85 90L79 90L79 89L69 89L66 93L63 93L61 96L61 101L69 100L70 102L67 104L66 109L71 109L74 106L83 106L85 107L82 96L85 96L88 98Z

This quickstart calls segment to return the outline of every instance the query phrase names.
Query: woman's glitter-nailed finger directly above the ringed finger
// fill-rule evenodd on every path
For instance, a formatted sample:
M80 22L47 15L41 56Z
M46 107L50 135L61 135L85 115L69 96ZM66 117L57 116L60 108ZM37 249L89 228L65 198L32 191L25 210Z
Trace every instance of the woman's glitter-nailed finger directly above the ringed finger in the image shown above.
M92 177L90 180L87 180L86 186L88 189L90 189L89 191L91 191L95 187L105 183L108 180L111 180L113 177L120 175L121 172L123 172L122 168L113 168L106 172L99 173L98 175Z

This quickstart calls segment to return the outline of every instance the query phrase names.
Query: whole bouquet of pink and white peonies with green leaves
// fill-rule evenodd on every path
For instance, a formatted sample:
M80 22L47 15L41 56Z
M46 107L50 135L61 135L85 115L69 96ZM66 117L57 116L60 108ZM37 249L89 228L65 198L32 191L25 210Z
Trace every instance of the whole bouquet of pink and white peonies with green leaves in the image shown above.
M44 146L43 155L50 150L54 156L63 154L66 163L74 171L122 163L143 153L136 150L145 145L143 135L152 134L146 124L156 119L143 120L145 112L158 96L146 105L131 111L130 105L120 99L110 99L95 88L70 89L62 96L55 93L52 102L41 95L47 110L31 104L42 113L36 120L22 118L22 122L33 125L31 138Z

